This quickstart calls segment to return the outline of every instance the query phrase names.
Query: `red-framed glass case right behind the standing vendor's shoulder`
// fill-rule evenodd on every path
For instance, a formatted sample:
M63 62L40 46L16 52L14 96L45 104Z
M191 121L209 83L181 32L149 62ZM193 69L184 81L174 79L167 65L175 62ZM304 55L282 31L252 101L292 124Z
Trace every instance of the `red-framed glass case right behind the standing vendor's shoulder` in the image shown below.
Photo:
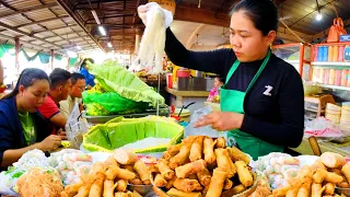
M310 44L292 43L272 46L272 53L292 65L301 74L303 80L311 80L311 51Z

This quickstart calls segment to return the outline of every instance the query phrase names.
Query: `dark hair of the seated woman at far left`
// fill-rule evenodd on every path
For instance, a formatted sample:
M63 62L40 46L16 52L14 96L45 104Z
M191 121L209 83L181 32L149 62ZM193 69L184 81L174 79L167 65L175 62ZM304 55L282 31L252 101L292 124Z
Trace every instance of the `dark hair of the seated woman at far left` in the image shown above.
M49 78L44 70L37 69L37 68L24 69L21 72L19 81L15 84L15 88L13 89L13 91L10 94L3 96L2 100L18 95L20 92L21 85L23 85L26 89L28 86L32 86L36 80L46 80L47 82L49 82Z

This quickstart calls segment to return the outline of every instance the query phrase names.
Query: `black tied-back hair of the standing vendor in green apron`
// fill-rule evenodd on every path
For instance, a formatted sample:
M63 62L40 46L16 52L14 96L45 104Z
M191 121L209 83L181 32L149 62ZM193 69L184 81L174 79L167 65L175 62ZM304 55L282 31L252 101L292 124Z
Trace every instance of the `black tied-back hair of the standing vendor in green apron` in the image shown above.
M235 4L230 15L234 12L244 11L254 26L266 36L270 31L278 30L278 9L271 0L242 0Z

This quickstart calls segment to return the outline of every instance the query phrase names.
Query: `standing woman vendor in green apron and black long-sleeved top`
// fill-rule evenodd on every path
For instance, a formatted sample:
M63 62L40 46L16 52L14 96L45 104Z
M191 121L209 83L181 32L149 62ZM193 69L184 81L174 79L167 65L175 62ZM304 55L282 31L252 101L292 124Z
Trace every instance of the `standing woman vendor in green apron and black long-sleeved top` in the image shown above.
M139 7L145 21L148 4ZM271 54L278 28L278 10L271 0L242 0L231 11L232 49L187 50L166 30L165 51L180 67L225 77L221 112L197 123L230 130L230 146L254 159L298 147L304 129L304 92L293 66Z

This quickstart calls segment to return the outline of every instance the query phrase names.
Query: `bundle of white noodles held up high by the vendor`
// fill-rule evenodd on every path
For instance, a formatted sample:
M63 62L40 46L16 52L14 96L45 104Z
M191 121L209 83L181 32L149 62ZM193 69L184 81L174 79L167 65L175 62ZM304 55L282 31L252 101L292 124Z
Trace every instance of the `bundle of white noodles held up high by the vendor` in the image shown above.
M165 31L173 21L170 11L162 9L158 3L149 3L145 30L140 43L138 57L131 70L149 69L150 73L158 74L163 71L162 57L165 48Z

